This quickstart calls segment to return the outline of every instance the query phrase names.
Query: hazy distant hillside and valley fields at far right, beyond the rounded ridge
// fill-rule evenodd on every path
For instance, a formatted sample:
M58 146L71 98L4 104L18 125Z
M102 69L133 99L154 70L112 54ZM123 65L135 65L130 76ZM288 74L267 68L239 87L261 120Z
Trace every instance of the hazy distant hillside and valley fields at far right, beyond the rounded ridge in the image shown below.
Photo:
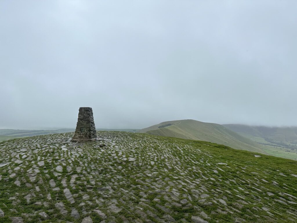
M267 148L268 154L290 158L297 154L297 127L266 127L240 124L223 125Z

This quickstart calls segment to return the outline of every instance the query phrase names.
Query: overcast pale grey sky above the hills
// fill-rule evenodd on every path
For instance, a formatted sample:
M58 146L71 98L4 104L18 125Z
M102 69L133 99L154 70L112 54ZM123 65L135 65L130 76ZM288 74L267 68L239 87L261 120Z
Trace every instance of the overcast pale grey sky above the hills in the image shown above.
M0 1L0 128L297 125L297 1Z

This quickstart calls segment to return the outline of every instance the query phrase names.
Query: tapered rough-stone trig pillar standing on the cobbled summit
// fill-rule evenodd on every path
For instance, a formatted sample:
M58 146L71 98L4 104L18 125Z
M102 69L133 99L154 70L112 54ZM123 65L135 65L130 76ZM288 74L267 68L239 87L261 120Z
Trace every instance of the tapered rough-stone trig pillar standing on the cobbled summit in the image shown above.
M96 138L97 135L92 108L80 107L78 112L76 129L72 141L93 141Z

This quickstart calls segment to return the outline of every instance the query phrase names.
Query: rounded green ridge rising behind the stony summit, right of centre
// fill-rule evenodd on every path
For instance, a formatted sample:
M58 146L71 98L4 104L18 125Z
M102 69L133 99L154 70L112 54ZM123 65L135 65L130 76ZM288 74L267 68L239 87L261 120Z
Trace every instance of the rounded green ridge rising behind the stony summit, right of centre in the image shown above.
M196 120L176 120L162 122L149 128L144 128L140 133L157 136L177 137L181 139L194 139L214 142L230 146L235 149L266 153L262 145L247 139L230 129L214 123L204 123Z

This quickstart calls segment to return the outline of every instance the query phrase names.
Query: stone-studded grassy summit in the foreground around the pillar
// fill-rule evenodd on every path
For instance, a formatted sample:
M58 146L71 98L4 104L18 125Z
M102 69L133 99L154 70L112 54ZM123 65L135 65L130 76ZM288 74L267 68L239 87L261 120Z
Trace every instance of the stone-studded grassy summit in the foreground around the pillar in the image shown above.
M70 142L72 133L0 142L0 221L297 221L296 161L148 134L98 135L85 144Z

